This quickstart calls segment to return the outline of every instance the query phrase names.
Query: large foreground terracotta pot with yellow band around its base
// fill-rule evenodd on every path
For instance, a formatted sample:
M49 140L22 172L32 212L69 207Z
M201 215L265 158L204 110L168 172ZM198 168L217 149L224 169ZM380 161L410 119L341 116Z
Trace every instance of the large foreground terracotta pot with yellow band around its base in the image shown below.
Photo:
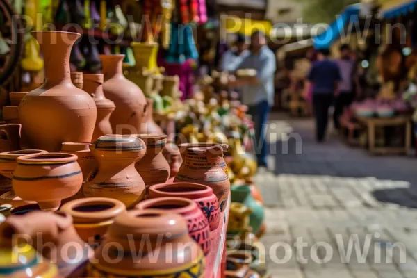
M142 238L149 244L144 245ZM117 263L111 263L120 258L117 256L120 247L124 256L117 259ZM131 254L135 254L136 259L132 260ZM186 220L181 215L161 210L135 210L117 216L94 259L88 265L88 277L204 276L204 255L188 235Z

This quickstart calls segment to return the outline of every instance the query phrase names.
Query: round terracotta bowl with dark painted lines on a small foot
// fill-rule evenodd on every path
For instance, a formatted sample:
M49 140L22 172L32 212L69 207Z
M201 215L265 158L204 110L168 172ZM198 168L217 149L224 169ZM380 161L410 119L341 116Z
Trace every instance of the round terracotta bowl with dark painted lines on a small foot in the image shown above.
M13 190L25 201L38 202L44 211L56 211L62 199L75 195L83 173L74 154L30 154L17 158Z

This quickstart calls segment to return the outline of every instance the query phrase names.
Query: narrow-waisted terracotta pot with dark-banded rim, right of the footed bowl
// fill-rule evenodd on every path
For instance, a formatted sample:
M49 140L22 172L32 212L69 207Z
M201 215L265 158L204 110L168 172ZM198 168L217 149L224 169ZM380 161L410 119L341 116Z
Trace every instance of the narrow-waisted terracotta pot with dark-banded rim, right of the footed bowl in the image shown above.
M95 143L92 154L98 168L83 186L85 197L118 199L127 207L145 197L145 183L135 163L145 156L147 148L138 136L106 135Z

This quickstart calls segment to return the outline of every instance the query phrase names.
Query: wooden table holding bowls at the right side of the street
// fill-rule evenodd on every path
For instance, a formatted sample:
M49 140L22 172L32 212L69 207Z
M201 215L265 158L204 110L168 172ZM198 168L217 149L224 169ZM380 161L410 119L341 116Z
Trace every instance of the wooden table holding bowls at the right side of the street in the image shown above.
M402 115L396 117L360 117L357 119L368 129L369 152L373 154L408 154L411 149L411 117ZM376 147L375 128L385 126L405 126L404 147Z

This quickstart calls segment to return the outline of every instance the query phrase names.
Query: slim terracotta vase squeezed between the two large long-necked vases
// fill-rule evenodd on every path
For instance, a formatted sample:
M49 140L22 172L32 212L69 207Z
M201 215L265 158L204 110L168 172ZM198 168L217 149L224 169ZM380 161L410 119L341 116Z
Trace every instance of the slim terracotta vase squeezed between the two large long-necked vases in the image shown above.
M104 97L103 74L84 74L83 90L88 92L97 106L97 120L92 134L92 141L95 142L100 136L112 134L110 115L115 111L115 103Z

